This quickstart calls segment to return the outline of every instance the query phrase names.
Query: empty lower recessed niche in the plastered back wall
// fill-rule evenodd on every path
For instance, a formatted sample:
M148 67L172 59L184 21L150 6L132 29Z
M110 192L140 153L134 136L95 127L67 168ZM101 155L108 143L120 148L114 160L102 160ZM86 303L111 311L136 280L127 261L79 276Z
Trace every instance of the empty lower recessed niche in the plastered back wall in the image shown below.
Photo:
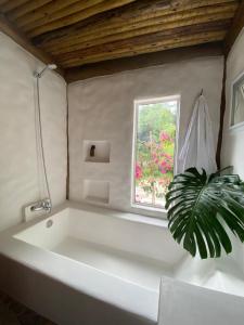
M84 199L91 203L108 204L110 183L106 181L85 180Z

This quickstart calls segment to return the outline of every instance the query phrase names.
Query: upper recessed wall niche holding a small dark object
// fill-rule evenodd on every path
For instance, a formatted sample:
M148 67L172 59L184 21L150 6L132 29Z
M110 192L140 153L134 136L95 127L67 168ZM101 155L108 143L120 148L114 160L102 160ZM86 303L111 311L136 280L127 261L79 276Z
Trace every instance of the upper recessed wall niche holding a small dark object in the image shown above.
M85 161L89 162L110 162L111 144L108 141L84 141Z

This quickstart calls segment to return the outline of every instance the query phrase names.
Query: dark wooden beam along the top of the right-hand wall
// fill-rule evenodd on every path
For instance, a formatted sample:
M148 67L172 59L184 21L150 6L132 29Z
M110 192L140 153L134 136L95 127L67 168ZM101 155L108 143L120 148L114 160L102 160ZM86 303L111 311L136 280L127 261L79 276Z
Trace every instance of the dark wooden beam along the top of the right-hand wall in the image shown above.
M241 1L239 9L236 10L235 16L231 28L229 29L224 39L224 52L226 55L230 52L235 39L237 38L241 30L244 28L244 1Z

